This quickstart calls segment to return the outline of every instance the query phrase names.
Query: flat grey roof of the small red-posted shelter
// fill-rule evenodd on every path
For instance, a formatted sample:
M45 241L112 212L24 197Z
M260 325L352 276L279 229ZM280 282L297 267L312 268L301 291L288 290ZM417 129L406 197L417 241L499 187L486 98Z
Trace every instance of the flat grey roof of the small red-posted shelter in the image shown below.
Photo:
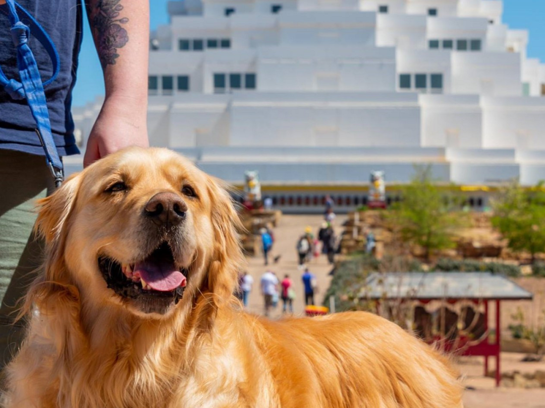
M505 276L490 272L373 273L360 298L433 299L532 299L532 293Z

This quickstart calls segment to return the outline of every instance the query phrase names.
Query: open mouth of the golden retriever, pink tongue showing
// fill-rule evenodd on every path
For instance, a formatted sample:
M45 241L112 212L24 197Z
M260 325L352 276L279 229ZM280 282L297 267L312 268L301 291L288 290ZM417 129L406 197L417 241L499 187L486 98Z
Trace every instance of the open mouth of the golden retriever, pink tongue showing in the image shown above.
M98 263L108 288L123 298L152 296L178 303L184 294L187 270L176 267L167 242L134 263L121 264L106 256L99 257Z

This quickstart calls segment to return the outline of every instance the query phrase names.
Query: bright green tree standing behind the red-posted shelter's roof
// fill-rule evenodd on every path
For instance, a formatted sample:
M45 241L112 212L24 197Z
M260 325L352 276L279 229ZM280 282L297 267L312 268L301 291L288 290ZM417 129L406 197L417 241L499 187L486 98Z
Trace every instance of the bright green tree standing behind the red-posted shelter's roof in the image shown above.
M453 209L456 197L441 191L433 183L431 167L415 167L416 175L402 189L402 200L389 215L391 225L402 240L419 245L426 259L433 251L453 248L455 231L463 226L464 217Z

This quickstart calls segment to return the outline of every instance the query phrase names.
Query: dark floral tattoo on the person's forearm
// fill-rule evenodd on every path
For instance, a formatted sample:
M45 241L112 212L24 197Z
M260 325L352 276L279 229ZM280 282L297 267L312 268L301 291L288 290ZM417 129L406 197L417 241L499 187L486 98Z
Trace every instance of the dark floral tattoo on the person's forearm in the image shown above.
M118 18L123 6L121 0L98 0L94 7L96 14L93 20L89 17L89 23L96 29L96 49L99 53L102 69L108 64L115 64L119 57L118 48L122 48L129 41L129 35L121 24L129 21L128 18ZM90 11L87 5L87 11ZM89 13L90 15L90 13Z

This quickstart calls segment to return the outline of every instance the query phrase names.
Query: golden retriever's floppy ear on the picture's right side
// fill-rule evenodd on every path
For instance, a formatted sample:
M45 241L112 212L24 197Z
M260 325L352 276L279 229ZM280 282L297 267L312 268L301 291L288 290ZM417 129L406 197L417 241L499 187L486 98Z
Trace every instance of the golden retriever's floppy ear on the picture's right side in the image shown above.
M208 271L208 288L219 298L228 299L244 264L239 239L243 226L225 183L209 177L208 192L214 227L214 253Z

